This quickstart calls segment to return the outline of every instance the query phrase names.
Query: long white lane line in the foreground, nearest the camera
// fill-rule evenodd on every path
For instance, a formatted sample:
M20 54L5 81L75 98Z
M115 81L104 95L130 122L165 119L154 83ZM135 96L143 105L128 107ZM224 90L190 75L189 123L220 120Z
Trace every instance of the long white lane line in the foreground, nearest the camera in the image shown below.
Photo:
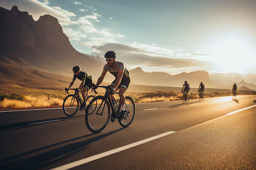
M139 142L135 142L135 143L132 143L132 144L128 144L128 145L125 145L125 146L122 146L122 147L119 147L119 148L116 148L116 149L113 149L113 150L109 150L107 152L104 152L104 153L99 153L97 155L94 155L94 156L90 156L88 158L84 158L84 159L81 159L79 161L75 161L75 162L72 162L72 163L69 163L69 164L65 164L65 165L62 165L60 167L55 167L53 168L52 170L67 170L67 169L70 169L70 168L73 168L73 167L77 167L81 164L86 164L90 161L94 161L96 159L100 159L100 158L103 158L105 156L109 156L109 155L112 155L114 153L117 153L117 152L120 152L120 151L123 151L123 150L126 150L126 149L129 149L131 147L135 147L135 146L138 146L140 144L143 144L143 143L146 143L146 142L149 142L149 141L152 141L154 139L157 139L157 138L161 138L163 136L166 136L166 135L169 135L171 133L175 133L174 131L169 131L169 132L166 132L166 133L163 133L163 134L160 134L160 135L157 135L157 136L153 136L151 138L148 138L148 139L144 139L142 141L139 141Z

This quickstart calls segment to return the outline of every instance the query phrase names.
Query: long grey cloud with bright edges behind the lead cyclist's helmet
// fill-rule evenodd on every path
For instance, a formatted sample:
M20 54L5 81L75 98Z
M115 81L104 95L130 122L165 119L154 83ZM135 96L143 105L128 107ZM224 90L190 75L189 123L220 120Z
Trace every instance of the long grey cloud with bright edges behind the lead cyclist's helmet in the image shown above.
M116 51L118 61L122 61L128 68L143 67L149 72L162 71L166 72L176 70L196 71L196 70L213 70L212 62L201 61L192 58L176 57L181 54L173 54L172 50L157 48L155 46L143 44L121 44L101 40L102 44L96 44L97 39L90 43L84 42L83 45L90 46L93 49L93 55L103 56L106 51ZM105 43L107 42L107 43ZM153 69L153 70L152 70Z

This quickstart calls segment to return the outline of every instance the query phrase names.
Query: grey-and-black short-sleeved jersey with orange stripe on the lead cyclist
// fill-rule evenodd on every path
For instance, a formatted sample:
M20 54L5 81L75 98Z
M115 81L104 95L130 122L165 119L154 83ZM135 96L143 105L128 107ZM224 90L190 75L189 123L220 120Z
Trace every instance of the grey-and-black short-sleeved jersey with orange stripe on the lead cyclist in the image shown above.
M116 63L116 66L114 68L106 64L103 68L103 73L107 73L107 71L109 71L116 78L118 73L123 73L122 79L126 79L127 77L129 77L129 72L125 68L125 65L122 62L118 62L118 61L116 61L115 63Z

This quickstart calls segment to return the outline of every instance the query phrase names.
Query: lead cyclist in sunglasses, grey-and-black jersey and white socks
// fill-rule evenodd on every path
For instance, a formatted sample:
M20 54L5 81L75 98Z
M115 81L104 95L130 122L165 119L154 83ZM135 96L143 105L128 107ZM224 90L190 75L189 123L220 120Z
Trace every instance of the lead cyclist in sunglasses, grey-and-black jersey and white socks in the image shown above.
M116 61L116 53L115 51L108 51L105 54L105 58L107 61L107 64L103 68L103 72L101 77L99 77L97 84L93 88L97 88L103 81L107 71L109 71L113 76L116 77L116 79L111 83L111 86L113 87L111 91L117 91L119 90L119 97L120 97L120 104L121 104L121 114L118 119L123 119L125 117L125 96L124 93L127 90L129 84L130 84L130 77L129 72L125 68L125 65L122 62ZM116 103L115 97L111 94L110 95L111 100Z

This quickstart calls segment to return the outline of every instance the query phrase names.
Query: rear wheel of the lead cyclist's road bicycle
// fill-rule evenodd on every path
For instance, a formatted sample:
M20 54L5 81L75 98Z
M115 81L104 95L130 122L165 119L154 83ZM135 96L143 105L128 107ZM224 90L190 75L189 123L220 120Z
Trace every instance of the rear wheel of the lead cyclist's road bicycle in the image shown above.
M124 119L118 119L118 122L122 127L128 127L131 125L135 116L135 103L130 96L125 96L125 111L126 115Z

